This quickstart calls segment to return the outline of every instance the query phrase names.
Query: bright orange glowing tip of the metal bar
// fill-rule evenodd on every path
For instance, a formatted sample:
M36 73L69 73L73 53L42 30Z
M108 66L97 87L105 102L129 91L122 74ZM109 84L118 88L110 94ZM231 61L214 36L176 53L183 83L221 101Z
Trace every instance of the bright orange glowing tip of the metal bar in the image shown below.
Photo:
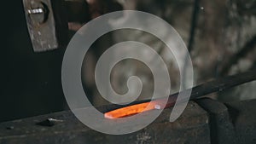
M123 107L110 112L106 112L104 114L104 117L108 119L124 118L140 112L146 112L155 109L154 102L151 102L150 104L149 103L150 102L144 102L137 105Z

